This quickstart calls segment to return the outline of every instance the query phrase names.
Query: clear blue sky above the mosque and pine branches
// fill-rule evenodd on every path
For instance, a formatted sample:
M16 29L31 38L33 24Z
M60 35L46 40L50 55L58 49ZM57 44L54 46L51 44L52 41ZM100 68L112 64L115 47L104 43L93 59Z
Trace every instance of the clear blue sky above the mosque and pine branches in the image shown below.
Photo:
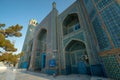
M9 38L15 42L15 47L20 53L26 36L30 19L36 19L40 23L52 10L52 3L56 2L56 8L63 12L76 0L0 0L0 23L5 23L6 28L11 25L22 25L22 37Z

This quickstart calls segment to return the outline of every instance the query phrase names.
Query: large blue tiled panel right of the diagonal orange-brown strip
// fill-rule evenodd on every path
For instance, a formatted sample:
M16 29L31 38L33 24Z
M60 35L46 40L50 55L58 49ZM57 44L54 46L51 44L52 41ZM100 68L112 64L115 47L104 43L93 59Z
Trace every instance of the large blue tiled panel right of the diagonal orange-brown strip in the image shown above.
M120 47L120 7L113 3L101 12L102 18L116 48Z

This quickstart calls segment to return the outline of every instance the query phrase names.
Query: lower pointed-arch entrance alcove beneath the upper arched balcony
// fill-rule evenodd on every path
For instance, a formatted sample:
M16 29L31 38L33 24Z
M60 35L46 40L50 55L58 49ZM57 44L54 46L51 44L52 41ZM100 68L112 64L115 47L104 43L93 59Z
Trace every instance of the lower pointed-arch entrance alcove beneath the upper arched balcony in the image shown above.
M72 40L65 48L67 73L87 74L88 56L83 42Z

